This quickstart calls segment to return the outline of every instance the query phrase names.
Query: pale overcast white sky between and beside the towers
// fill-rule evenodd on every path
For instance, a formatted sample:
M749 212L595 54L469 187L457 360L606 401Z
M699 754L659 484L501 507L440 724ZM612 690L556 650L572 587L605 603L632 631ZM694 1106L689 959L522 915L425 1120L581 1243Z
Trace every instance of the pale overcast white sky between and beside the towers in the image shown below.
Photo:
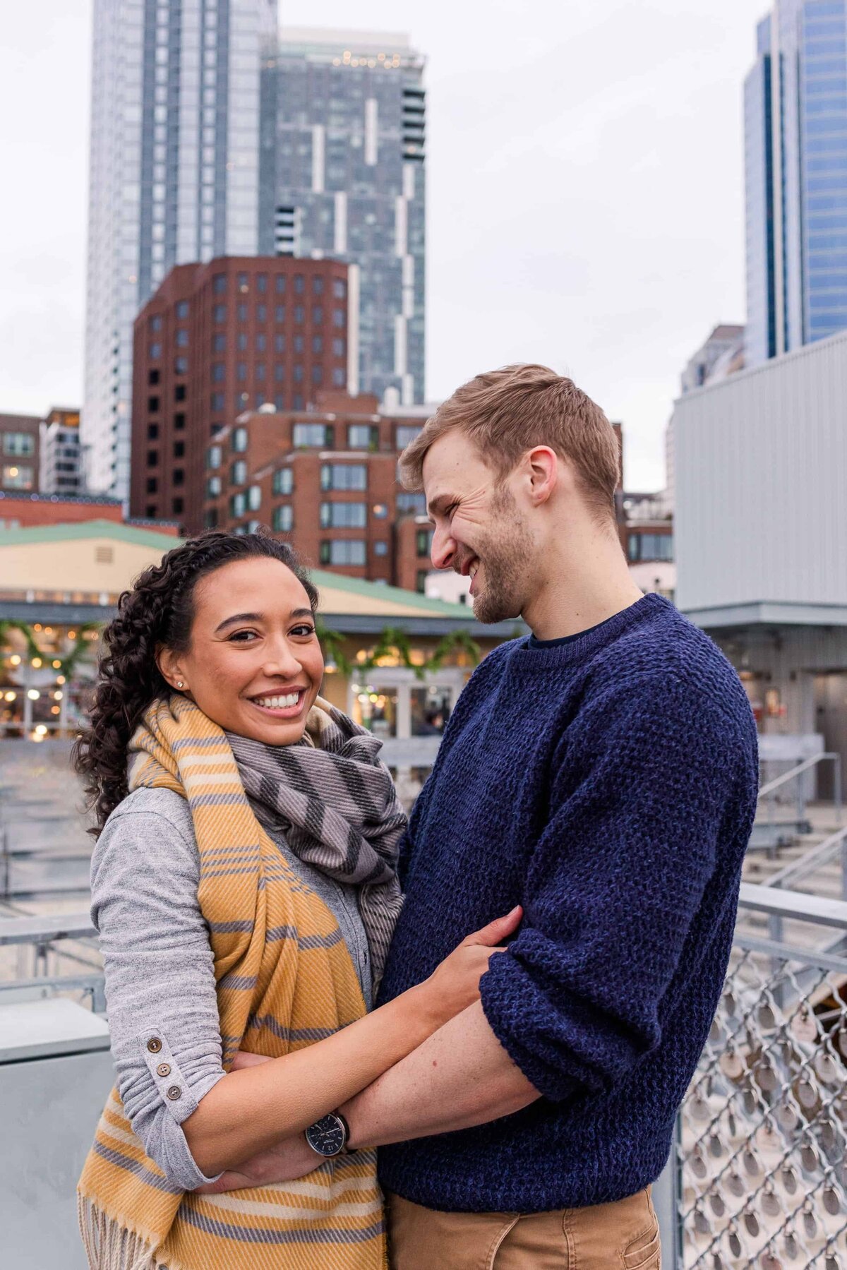
M664 480L682 366L744 318L742 83L767 0L358 0L428 57L427 395L571 375ZM349 0L283 0L350 27ZM90 0L4 6L0 413L83 391Z

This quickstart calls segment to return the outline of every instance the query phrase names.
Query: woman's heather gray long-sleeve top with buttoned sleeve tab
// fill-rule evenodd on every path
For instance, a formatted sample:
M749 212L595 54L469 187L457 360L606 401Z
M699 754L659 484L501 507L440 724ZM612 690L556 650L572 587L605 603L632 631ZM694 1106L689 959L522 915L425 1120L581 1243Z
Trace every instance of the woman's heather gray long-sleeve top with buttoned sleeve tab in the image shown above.
M371 961L356 889L328 878L274 837L330 908L371 1007ZM117 1086L145 1151L169 1181L199 1171L183 1120L225 1074L208 927L197 900L199 853L188 803L140 789L114 809L91 856L91 919L100 936ZM149 1041L155 1039L161 1045Z

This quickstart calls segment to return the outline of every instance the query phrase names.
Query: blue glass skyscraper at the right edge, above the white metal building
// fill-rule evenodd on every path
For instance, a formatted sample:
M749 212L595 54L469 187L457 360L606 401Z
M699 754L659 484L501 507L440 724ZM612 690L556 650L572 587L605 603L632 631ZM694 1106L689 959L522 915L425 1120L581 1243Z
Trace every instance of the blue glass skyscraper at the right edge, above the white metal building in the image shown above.
M745 363L847 328L847 0L777 0L744 83Z

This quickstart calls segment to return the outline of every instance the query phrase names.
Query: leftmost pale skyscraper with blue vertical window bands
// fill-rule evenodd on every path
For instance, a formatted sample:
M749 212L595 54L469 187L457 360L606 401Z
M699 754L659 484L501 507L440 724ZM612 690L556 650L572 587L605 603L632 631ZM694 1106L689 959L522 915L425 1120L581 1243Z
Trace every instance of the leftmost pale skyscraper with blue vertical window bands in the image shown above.
M130 493L132 324L168 271L255 255L259 77L276 0L94 0L88 486Z

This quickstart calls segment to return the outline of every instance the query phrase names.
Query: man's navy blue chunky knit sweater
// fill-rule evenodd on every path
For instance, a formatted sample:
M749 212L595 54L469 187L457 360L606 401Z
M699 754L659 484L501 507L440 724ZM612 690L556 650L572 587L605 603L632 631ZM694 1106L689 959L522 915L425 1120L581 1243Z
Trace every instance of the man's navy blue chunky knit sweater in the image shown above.
M658 596L485 658L413 813L381 999L522 903L481 997L542 1097L382 1148L387 1189L542 1212L655 1180L721 991L757 784L735 672Z

